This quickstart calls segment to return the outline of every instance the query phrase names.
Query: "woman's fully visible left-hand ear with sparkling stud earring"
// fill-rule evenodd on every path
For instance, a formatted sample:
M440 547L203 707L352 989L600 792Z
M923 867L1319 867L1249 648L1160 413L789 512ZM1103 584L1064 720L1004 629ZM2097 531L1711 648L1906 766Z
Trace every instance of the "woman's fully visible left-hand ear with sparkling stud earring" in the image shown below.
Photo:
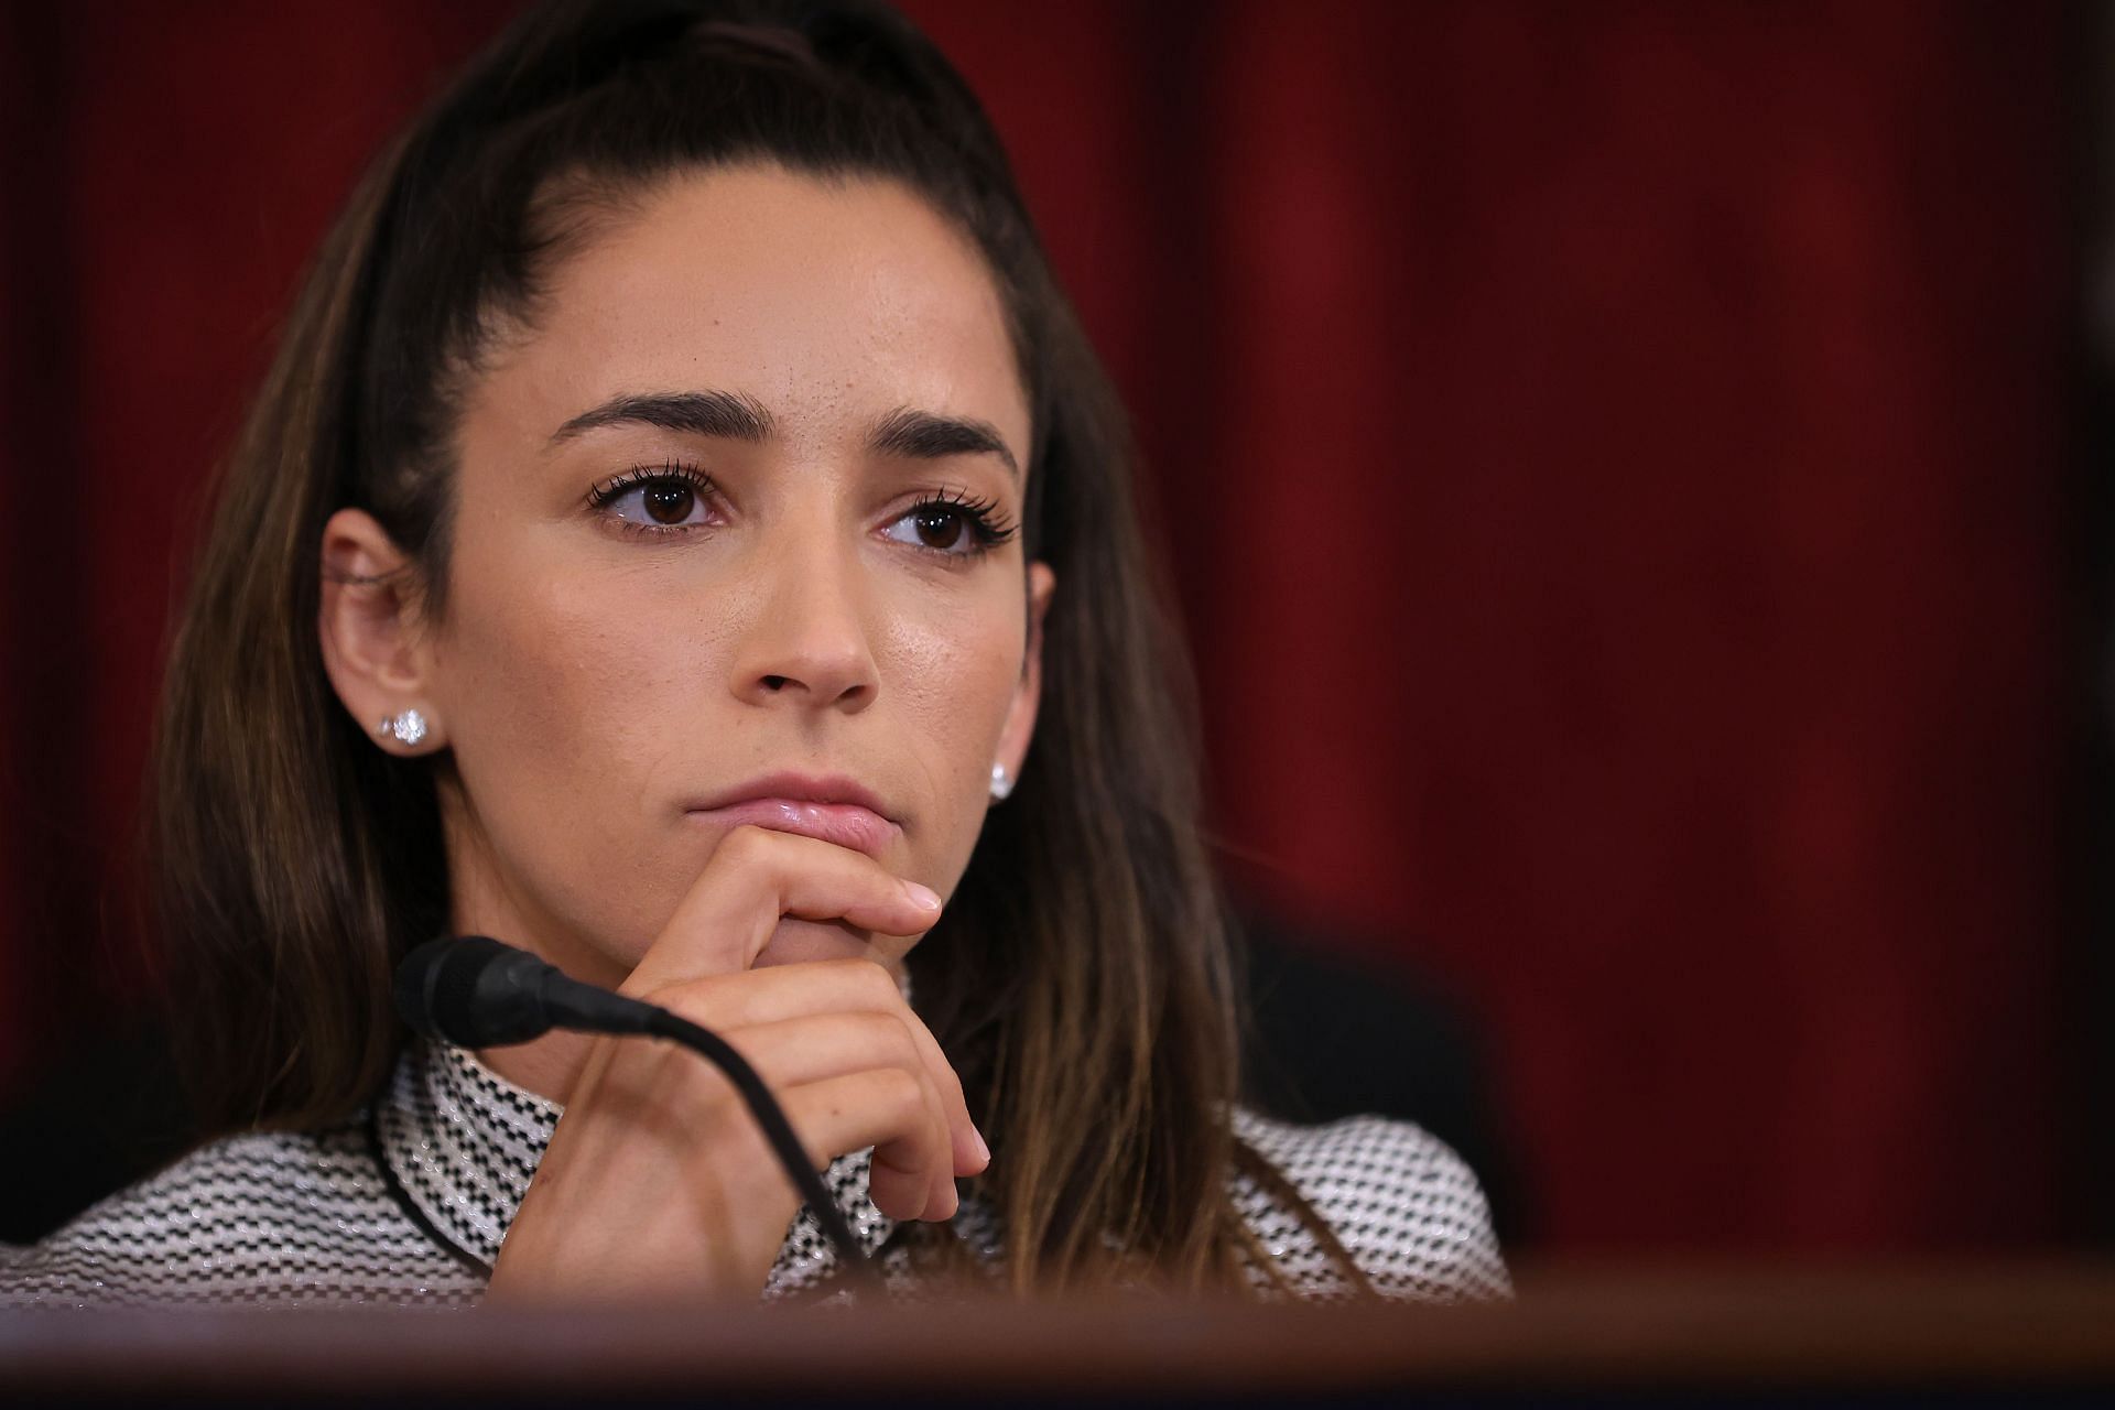
M446 721L434 717L434 657L421 602L417 569L374 516L364 509L330 516L317 613L324 670L366 736L391 755L429 755L446 742ZM383 729L406 710L425 721L421 738Z

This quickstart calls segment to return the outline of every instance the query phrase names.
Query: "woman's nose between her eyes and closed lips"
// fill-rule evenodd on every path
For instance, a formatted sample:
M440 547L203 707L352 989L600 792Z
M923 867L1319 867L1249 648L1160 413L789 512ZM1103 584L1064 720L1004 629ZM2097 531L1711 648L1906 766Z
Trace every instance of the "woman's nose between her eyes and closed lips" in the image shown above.
M880 674L867 634L861 571L829 535L802 535L761 556L757 613L734 662L747 704L802 704L857 715Z

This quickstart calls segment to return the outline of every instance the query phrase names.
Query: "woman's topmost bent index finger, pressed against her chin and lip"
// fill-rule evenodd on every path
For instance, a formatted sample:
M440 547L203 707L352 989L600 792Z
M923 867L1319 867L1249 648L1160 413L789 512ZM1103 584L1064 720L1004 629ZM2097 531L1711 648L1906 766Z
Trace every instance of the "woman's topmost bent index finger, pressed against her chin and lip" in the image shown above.
M939 920L939 896L903 882L865 852L738 827L721 837L624 991L747 970L787 915L842 920L882 934L924 934Z

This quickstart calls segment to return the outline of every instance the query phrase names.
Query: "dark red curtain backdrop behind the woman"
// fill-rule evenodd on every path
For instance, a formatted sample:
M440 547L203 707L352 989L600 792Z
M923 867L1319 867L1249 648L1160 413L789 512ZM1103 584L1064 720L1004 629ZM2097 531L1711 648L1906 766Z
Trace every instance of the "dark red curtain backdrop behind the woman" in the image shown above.
M0 11L0 1089L144 987L207 467L505 11ZM1544 1245L2075 1232L2062 11L909 11L1138 416L1244 886L1487 1019Z

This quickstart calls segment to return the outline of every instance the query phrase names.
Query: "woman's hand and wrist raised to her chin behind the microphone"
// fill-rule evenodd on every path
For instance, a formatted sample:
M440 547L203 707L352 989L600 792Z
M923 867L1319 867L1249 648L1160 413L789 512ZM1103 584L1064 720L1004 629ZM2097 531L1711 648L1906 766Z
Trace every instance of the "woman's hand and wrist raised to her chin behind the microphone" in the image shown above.
M990 1152L962 1082L869 960L749 968L787 915L920 934L933 892L861 852L742 827L719 843L624 994L700 1023L778 1097L816 1169L873 1146L895 1220L945 1220ZM799 1209L734 1087L668 1042L601 1038L567 1097L491 1294L755 1296Z

